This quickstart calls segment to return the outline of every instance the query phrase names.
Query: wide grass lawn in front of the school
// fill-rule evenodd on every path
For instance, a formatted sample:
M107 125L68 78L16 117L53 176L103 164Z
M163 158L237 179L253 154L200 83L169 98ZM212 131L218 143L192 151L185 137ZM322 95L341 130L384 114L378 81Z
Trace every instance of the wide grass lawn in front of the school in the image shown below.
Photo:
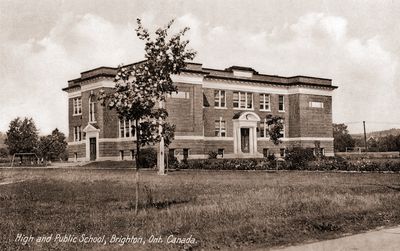
M140 176L136 216L132 170L0 169L0 250L256 249L400 224L400 174L142 171ZM18 234L34 241L23 245ZM37 242L51 234L48 243ZM79 239L55 241L56 234ZM107 243L84 243L82 234L104 236ZM112 235L142 237L146 244L110 243ZM149 243L152 235L163 243ZM187 241L195 243L166 243L172 235L192 236Z

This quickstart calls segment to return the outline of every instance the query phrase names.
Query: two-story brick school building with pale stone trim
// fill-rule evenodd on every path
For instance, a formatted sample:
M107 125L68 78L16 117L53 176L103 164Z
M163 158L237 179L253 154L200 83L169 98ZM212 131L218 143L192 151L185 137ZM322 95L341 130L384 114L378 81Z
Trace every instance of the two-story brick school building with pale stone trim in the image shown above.
M140 63L140 62L139 62ZM101 89L114 87L117 68L99 67L68 81L70 160L125 160L135 153L132 121L97 101ZM188 63L172 76L178 93L165 102L176 125L169 153L182 158L223 158L283 155L292 146L315 148L333 155L330 79L259 74L252 68L225 70ZM282 143L267 134L266 116L283 118Z

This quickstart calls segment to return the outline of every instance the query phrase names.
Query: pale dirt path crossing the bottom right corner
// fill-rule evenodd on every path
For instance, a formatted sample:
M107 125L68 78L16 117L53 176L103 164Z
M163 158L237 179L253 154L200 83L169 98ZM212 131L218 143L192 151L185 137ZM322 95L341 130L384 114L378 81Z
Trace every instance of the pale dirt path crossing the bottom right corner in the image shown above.
M400 250L400 226L381 229L335 240L320 241L310 244L291 246L276 251L395 251Z

